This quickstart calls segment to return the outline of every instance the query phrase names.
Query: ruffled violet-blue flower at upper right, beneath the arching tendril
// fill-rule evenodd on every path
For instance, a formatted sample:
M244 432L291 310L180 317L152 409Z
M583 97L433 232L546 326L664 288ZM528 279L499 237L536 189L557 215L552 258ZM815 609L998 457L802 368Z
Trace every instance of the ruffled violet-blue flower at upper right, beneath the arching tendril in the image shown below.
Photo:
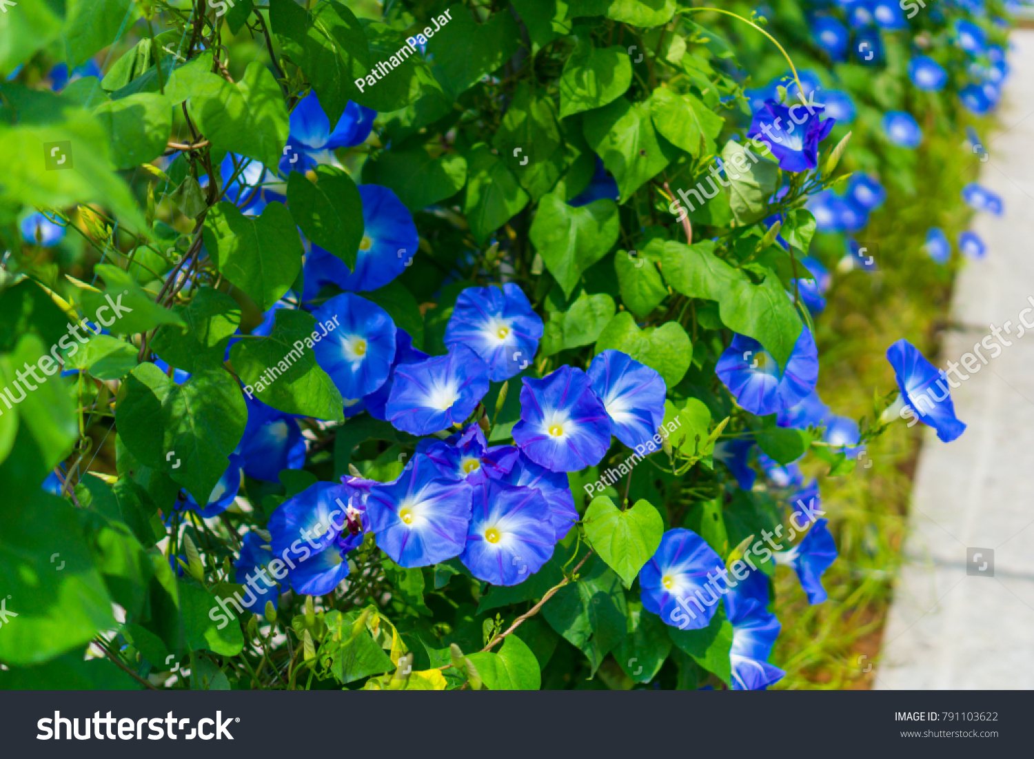
M819 143L826 139L834 122L821 119L825 113L822 105L811 105L810 110L812 113L803 103L788 108L765 100L764 107L754 114L747 135L768 143L785 171L815 169L819 164Z

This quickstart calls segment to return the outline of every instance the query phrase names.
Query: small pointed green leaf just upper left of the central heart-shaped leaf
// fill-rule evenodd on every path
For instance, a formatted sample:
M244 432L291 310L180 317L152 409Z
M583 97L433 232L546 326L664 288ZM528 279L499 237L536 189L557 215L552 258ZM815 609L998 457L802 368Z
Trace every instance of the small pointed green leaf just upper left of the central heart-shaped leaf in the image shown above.
M474 146L466 154L466 165L464 213L474 239L483 243L531 199L487 145Z

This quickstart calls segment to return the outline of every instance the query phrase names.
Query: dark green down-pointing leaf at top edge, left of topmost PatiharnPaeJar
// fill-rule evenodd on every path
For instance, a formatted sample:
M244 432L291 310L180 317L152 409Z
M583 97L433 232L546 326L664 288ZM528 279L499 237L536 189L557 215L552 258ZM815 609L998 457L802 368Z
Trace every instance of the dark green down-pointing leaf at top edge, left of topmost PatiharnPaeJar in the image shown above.
M311 83L328 120L336 124L348 100L359 94L355 81L376 62L359 20L336 0L312 10L293 0L270 0L269 20L284 52Z

